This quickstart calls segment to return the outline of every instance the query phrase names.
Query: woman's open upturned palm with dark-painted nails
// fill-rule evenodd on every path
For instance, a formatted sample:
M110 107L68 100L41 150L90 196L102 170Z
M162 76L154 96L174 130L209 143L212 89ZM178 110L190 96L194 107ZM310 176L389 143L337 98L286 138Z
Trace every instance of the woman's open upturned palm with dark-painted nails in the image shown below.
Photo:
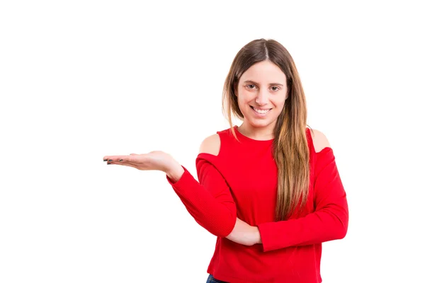
M103 161L108 161L108 164L130 166L138 170L163 171L167 175L173 175L174 179L176 175L183 171L179 163L164 151L151 151L148 154L104 156Z

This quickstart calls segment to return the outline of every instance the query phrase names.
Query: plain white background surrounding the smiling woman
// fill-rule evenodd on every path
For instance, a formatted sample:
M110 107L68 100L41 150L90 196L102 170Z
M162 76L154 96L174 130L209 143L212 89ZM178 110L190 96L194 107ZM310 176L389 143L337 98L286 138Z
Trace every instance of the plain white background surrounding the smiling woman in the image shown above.
M261 37L292 54L347 192L324 282L425 282L423 10L341 2L1 1L0 282L205 282L215 236L165 174L102 158L162 150L196 175Z

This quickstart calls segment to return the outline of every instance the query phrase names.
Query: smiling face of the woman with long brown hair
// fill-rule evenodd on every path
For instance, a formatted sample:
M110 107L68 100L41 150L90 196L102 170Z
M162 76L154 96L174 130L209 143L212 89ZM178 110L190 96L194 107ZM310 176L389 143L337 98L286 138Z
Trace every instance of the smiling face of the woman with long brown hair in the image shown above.
M251 127L273 129L286 98L286 76L272 62L262 61L252 65L239 79L237 101L244 122Z

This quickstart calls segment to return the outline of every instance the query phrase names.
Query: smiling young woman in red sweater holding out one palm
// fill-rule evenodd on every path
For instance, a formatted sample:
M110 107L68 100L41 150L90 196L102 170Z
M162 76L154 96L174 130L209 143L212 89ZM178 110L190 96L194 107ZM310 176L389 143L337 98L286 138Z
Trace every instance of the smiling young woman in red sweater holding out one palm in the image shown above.
M223 108L230 127L200 144L199 182L162 151L103 159L166 173L191 216L217 236L208 282L322 282L322 243L346 236L346 192L329 141L307 127L288 50L275 40L245 45Z

